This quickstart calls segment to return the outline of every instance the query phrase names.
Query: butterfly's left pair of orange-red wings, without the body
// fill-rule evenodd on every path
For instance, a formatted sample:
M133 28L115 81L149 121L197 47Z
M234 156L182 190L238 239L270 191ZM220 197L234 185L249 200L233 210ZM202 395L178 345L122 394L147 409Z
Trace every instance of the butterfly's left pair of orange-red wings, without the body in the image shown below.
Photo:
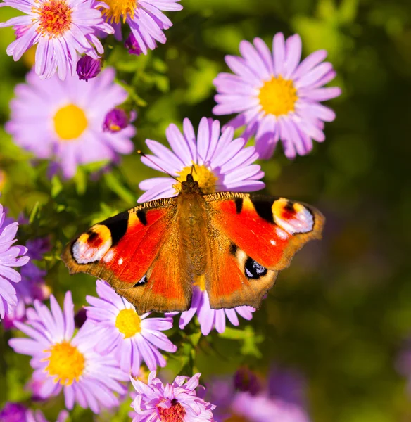
M63 262L70 274L85 272L108 281L139 314L185 310L191 282L179 271L176 212L176 198L121 212L70 242Z

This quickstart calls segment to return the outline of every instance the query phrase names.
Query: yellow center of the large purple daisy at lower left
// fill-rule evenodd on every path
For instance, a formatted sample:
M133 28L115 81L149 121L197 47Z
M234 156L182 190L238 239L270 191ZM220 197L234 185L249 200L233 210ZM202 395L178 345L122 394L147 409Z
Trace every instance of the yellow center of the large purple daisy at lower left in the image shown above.
M44 352L50 352L50 356L43 359L45 362L49 361L44 371L48 372L49 376L55 377L55 383L71 385L73 381L79 381L84 372L85 359L77 347L63 341L52 345Z

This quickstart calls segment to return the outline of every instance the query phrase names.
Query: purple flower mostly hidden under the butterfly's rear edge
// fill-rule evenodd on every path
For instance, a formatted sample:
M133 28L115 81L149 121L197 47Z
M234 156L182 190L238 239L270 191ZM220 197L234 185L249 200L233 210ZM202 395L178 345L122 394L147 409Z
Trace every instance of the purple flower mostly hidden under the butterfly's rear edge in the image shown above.
M249 321L253 318L254 311L255 309L251 306L239 306L232 309L211 309L205 287L195 286L193 289L193 298L191 299L191 307L188 311L182 312L179 319L179 328L184 329L191 319L193 319L193 316L197 315L203 335L208 335L213 328L218 333L224 333L226 317L234 326L238 326L240 323L237 314ZM171 315L175 314L175 312L171 313Z

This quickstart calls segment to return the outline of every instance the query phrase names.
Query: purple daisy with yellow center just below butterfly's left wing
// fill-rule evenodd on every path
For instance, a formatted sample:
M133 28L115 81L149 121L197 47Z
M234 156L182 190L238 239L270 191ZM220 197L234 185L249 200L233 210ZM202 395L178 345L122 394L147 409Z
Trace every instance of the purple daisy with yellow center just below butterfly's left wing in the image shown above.
M166 362L158 349L175 352L177 347L160 331L172 328L171 318L139 316L134 306L119 296L105 281L96 281L99 298L87 296L87 319L95 324L90 341L100 353L113 353L122 371L137 375L141 362L150 371ZM101 338L105 338L101 342Z

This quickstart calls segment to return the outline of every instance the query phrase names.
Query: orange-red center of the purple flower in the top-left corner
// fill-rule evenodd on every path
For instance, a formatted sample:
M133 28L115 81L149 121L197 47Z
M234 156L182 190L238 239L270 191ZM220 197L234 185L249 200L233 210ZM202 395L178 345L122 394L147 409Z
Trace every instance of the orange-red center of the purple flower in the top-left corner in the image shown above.
M49 38L58 37L70 29L72 8L65 0L49 0L35 9L39 15L37 32Z

